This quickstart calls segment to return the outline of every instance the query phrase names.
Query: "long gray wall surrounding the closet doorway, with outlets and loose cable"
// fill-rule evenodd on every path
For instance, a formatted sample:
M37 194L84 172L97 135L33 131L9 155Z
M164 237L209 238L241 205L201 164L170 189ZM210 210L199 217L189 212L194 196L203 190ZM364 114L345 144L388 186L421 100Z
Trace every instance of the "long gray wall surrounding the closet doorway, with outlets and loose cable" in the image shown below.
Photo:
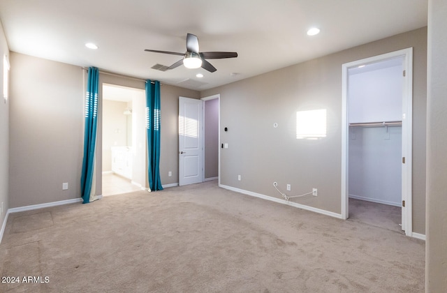
M407 47L413 47L413 232L425 234L426 28L203 91L221 95L221 142L228 143L221 184L278 198L274 181L283 190L290 183L295 195L318 188L318 197L296 202L340 213L342 64ZM321 108L328 112L327 137L296 140L295 113Z

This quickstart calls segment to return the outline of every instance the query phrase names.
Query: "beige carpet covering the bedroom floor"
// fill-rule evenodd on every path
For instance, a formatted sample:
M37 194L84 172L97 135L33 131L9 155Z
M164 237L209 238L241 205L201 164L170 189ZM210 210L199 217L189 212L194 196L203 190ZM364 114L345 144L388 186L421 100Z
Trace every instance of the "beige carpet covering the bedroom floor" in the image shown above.
M12 213L0 292L423 292L425 243L216 181Z

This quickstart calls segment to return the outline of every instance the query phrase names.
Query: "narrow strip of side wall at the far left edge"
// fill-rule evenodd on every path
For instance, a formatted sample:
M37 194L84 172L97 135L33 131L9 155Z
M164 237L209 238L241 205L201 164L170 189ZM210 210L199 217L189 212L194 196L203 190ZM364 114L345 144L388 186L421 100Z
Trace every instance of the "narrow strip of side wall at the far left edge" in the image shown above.
M0 204L3 202L3 212L0 216L0 227L8 211L8 168L9 168L9 101L3 100L3 55L9 58L8 44L0 22ZM10 96L10 95L9 95ZM1 235L0 235L1 237Z

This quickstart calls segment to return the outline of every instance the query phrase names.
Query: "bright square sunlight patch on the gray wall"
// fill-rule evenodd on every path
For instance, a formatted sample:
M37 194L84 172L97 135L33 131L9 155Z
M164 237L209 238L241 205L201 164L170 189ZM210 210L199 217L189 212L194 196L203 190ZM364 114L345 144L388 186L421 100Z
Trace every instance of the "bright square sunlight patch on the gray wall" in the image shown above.
M318 140L326 137L326 110L296 112L296 138Z

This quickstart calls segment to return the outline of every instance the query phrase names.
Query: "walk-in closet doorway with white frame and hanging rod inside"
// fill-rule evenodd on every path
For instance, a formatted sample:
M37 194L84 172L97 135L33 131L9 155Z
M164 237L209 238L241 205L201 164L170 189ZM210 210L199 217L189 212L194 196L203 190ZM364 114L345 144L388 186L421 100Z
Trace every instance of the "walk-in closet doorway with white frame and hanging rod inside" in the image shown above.
M400 212L400 219L387 228L407 235L412 231L411 61L409 48L343 65L342 217L350 216L350 200L356 207L362 202L393 206L388 211Z

